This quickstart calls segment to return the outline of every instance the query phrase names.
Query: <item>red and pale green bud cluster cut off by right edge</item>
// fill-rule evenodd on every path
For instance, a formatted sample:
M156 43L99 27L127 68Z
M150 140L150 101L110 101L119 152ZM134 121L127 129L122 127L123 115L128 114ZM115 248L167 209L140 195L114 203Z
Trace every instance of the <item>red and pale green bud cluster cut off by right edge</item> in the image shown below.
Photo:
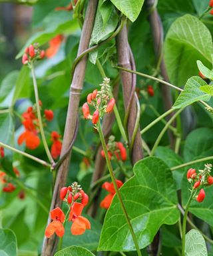
M200 189L200 187L213 184L213 177L210 175L212 165L206 164L204 166L204 170L198 170L198 173L196 173L196 169L190 168L186 174L188 182L192 184L192 190L195 190L194 198L198 203L204 201L206 196L204 189ZM200 189L198 194L197 189Z

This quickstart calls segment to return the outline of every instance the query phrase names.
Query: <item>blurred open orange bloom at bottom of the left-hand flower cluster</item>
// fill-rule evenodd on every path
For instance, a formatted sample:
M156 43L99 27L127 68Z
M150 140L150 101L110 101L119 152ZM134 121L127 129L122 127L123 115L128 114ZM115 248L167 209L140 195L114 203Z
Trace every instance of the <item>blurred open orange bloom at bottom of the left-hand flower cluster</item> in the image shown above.
M36 149L40 145L40 139L36 131L24 131L18 139L18 144L21 145L25 141L27 149Z

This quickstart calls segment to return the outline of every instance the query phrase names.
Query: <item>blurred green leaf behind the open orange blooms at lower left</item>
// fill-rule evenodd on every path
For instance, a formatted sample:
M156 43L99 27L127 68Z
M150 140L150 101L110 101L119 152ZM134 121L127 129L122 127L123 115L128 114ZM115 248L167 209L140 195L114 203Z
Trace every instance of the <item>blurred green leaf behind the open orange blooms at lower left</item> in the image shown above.
M71 223L65 225L65 235L63 237L63 247L70 245L82 245L83 247L95 251L99 244L99 237L101 234L101 224L95 219L85 216L91 223L91 229L86 230L81 239L79 236L71 235Z

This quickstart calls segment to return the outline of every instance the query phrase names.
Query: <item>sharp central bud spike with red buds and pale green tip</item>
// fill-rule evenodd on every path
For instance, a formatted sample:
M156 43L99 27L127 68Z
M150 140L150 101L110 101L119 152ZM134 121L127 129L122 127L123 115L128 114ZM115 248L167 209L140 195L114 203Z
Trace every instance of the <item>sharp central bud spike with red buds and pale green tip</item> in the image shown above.
M85 119L91 119L93 125L97 129L97 123L105 113L110 113L113 110L115 100L111 97L110 79L105 77L101 83L101 90L97 89L93 93L87 95L87 102L83 104L82 111ZM93 107L95 111L93 115L90 113L89 106Z

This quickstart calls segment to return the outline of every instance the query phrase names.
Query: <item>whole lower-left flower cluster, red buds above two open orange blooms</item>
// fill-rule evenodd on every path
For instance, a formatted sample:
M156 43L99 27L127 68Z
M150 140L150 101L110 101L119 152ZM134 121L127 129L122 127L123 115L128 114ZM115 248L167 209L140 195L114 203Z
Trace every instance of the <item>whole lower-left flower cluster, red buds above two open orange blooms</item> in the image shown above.
M51 219L53 220L45 230L45 236L51 237L56 233L59 237L63 237L65 233L65 222L72 221L71 233L73 235L82 235L86 229L91 229L89 220L81 215L83 208L89 201L88 195L83 191L81 185L74 182L69 187L63 187L60 191L60 198L67 203L69 207L67 214L57 207L51 211ZM69 217L67 218L67 216Z

